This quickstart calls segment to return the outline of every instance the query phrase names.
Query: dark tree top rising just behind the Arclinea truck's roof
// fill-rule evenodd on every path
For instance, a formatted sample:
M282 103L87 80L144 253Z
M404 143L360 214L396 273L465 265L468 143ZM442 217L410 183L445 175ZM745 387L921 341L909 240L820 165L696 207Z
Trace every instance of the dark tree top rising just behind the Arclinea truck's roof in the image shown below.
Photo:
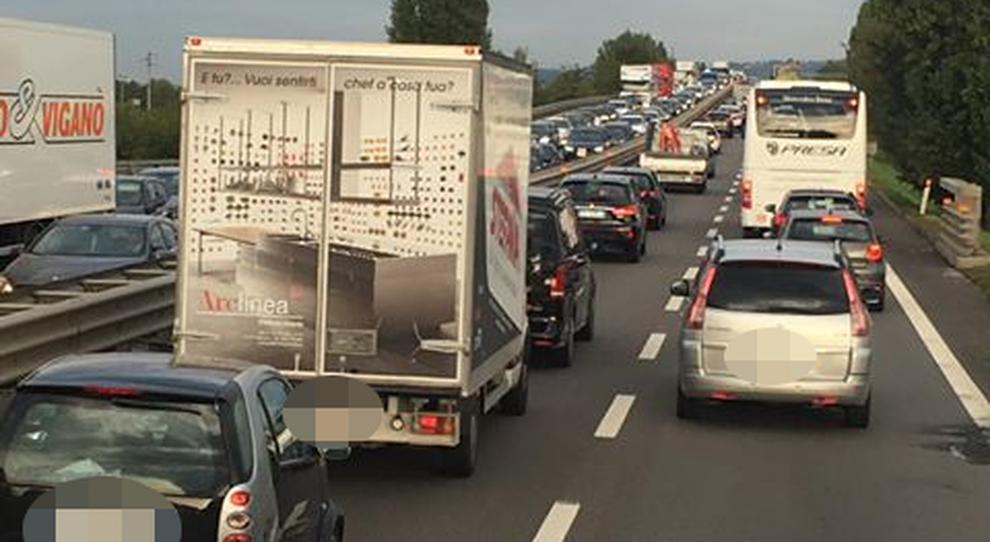
M393 43L471 44L491 49L488 0L392 0Z

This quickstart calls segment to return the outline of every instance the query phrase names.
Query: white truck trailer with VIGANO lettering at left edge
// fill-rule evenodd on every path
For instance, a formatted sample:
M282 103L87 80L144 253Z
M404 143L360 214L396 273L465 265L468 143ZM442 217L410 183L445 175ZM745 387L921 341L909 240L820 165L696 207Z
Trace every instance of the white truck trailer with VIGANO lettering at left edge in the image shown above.
M0 269L53 219L114 208L113 34L0 19Z

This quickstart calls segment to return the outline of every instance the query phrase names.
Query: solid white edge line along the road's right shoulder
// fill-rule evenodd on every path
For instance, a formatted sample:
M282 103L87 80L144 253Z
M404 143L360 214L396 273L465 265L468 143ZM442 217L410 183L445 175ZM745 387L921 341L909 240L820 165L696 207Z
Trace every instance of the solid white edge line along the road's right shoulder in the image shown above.
M962 402L969 417L973 419L973 423L981 429L990 429L990 402L970 378L966 368L959 363L959 359L949 349L949 345L942 339L942 335L939 334L938 329L925 314L924 309L914 299L911 291L907 289L907 286L901 281L901 277L890 265L887 266L887 287L890 288L890 293L894 294L897 302L904 309L904 314L911 321L918 337L925 343L925 348L935 360L935 365L942 371L942 375L949 382L952 391L959 397L959 401Z

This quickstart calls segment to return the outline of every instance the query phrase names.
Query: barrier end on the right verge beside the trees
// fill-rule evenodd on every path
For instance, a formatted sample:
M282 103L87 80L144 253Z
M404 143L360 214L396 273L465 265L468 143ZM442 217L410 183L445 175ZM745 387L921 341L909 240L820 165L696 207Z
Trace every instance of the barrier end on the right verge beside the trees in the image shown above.
M940 179L939 186L952 197L944 202L939 213L935 248L957 269L990 265L990 254L980 245L983 188L953 178Z

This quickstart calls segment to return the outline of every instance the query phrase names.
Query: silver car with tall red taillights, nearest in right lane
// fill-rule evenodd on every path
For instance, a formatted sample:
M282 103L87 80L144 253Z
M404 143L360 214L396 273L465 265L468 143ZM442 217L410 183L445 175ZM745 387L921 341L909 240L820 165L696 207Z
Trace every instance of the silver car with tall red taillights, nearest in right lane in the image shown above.
M680 340L677 414L702 402L837 407L870 420L872 320L842 247L719 238L696 279Z

